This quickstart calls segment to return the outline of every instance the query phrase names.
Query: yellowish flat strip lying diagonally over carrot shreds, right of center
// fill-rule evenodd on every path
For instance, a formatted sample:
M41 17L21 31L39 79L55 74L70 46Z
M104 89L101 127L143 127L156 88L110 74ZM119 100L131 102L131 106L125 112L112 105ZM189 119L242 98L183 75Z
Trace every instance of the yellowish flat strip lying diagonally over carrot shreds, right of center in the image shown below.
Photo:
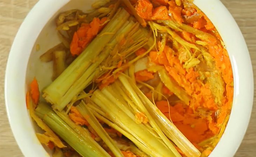
M173 80L171 78L171 76L169 76L167 71L164 68L162 68L162 69L158 70L158 74L161 78L161 81L164 83L164 85L171 92L173 92L178 98L180 98L184 103L186 103L188 105L189 101L190 101L189 95L186 93L186 91L184 89L182 89L182 87L180 87L175 82L175 80Z

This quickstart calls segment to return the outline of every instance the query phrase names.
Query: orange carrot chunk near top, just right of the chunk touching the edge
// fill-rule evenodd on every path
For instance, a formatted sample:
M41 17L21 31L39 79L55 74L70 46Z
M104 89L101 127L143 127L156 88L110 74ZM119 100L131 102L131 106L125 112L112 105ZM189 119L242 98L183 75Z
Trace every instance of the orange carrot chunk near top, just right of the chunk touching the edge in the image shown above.
M168 20L169 18L166 6L156 7L152 12L152 20Z

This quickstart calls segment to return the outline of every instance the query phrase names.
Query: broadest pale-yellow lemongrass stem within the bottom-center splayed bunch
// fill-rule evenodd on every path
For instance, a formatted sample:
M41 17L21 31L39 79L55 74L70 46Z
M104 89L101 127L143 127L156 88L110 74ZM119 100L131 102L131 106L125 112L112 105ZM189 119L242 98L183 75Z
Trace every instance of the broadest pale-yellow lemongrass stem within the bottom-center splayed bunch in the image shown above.
M113 121L116 125L129 132L139 140L148 149L151 149L156 154L149 154L151 156L169 156L175 157L173 152L158 138L148 132L148 128L144 124L137 124L135 119L126 115L127 111L121 110L112 99L104 95L100 90L96 90L92 96L92 100L101 107L101 109L108 113L107 118ZM150 142L149 142L150 140ZM138 145L137 145L138 146ZM139 146L138 146L139 147ZM139 147L140 148L140 147ZM145 152L148 153L148 152ZM178 154L180 157L180 154Z

